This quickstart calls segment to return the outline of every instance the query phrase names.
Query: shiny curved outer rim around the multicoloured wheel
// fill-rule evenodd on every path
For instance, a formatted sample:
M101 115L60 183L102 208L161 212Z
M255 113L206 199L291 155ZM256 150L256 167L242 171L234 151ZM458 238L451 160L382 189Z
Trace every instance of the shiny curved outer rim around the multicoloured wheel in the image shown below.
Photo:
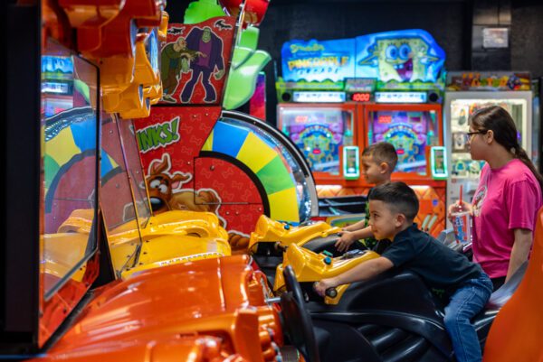
M281 161L290 169L291 177L293 178L294 183L296 184L296 193L298 198L299 214L300 221L308 220L311 216L311 199L310 199L310 187L308 186L307 180L300 169L300 165L289 150L281 144L281 142L275 137L268 134L262 128L243 122L233 118L221 118L222 122L229 123L231 125L236 125L243 128L248 128L250 132L254 135L258 135L260 139L266 144L269 144L271 148L275 149Z

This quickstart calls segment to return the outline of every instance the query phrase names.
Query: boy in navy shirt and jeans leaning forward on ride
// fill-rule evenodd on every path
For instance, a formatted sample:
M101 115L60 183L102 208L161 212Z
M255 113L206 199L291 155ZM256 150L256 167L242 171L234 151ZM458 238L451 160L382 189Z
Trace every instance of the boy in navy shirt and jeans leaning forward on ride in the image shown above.
M481 266L420 231L413 219L418 199L404 182L377 186L368 197L369 225L377 240L392 244L378 258L316 283L319 295L332 287L371 279L392 268L418 274L430 289L444 290L450 296L445 307L444 324L452 340L458 362L481 361L481 347L471 319L488 302L491 279Z

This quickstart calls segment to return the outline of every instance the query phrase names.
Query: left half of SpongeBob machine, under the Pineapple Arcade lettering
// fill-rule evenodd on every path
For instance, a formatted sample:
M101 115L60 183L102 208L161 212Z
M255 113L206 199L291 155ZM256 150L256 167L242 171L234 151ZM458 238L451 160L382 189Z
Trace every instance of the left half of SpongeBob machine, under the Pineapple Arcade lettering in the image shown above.
M355 41L286 42L281 68L277 127L310 164L319 194L318 219L332 222L341 216L342 225L356 222L366 199L343 190L360 177L356 155L362 109L347 93L355 80ZM344 152L353 155L347 173L342 169Z

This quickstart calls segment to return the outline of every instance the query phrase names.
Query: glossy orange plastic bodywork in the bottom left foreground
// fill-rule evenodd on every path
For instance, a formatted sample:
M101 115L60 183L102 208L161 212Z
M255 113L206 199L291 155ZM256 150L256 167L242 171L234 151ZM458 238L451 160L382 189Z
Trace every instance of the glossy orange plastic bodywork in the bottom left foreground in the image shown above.
M110 283L40 361L274 361L279 317L248 262L207 259Z

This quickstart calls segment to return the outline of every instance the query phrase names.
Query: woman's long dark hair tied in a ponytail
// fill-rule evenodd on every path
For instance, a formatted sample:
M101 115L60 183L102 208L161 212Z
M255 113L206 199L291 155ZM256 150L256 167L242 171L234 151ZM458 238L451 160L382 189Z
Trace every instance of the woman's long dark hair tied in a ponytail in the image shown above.
M539 188L543 190L543 176L536 170L526 154L526 151L519 145L517 138L517 127L508 111L500 106L490 106L478 109L470 116L469 124L474 130L494 132L494 139L506 150L512 153L513 157L522 161L534 174L539 182Z

